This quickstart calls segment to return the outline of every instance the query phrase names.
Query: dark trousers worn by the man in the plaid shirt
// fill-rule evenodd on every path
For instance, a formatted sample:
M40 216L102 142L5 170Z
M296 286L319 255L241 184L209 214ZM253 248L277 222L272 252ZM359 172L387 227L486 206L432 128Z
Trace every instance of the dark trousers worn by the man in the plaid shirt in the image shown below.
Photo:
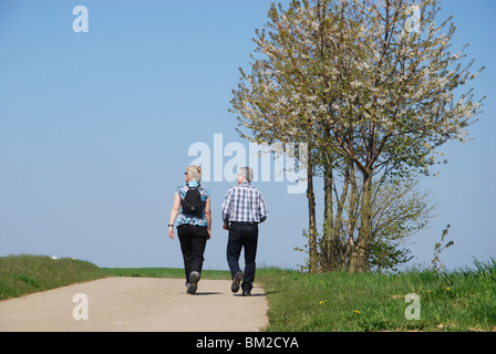
M229 226L229 240L227 241L227 263L232 278L240 272L239 256L245 249L245 273L241 289L251 291L255 281L255 270L258 244L258 223L231 222Z

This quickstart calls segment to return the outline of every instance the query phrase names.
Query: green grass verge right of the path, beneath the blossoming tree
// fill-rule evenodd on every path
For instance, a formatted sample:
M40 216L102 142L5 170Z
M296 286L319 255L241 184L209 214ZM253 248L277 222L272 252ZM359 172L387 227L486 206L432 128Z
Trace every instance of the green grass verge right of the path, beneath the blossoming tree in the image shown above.
M257 281L269 301L266 331L493 331L496 330L496 263L438 274L327 273L266 269ZM420 296L420 320L406 320ZM417 312L418 313L418 312Z

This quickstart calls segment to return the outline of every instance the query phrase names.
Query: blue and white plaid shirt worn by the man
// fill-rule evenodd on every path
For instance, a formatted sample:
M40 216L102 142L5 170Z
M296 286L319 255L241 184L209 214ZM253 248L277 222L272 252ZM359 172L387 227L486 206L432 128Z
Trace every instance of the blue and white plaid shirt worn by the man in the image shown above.
M225 225L229 225L229 221L262 222L268 215L264 195L248 181L227 191L223 202Z

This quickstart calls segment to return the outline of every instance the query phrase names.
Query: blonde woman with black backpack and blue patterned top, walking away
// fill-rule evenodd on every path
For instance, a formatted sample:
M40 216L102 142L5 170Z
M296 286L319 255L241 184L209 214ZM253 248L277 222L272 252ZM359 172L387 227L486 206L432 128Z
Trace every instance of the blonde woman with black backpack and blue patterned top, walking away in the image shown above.
M168 236L174 239L177 215L177 236L183 252L187 293L195 294L202 274L204 252L211 236L210 192L203 186L202 167L188 166L186 184L177 187L170 210Z

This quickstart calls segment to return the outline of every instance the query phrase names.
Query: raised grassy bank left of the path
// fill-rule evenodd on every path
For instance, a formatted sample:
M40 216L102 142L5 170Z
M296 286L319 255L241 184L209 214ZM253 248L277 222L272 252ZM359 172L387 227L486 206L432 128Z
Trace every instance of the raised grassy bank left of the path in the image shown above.
M0 301L105 277L96 266L71 258L0 257Z

